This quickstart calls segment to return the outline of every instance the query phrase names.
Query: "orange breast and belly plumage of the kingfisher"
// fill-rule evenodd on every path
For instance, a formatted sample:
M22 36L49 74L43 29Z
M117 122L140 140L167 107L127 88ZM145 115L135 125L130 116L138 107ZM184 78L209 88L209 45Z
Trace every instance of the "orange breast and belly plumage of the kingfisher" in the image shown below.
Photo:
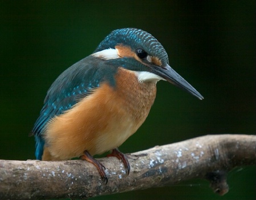
M92 95L47 125L43 160L66 160L85 150L91 155L117 148L146 119L156 83L138 83L133 71L118 69L116 87L103 83Z

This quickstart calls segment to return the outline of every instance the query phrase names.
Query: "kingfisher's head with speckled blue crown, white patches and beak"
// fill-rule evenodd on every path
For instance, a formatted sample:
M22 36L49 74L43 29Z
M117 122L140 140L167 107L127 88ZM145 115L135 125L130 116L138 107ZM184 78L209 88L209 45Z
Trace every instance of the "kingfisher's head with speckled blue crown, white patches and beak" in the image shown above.
M162 44L141 29L122 28L111 32L98 45L93 56L122 61L126 69L136 72L139 82L167 80L199 99L204 99L191 84L170 67L168 55Z

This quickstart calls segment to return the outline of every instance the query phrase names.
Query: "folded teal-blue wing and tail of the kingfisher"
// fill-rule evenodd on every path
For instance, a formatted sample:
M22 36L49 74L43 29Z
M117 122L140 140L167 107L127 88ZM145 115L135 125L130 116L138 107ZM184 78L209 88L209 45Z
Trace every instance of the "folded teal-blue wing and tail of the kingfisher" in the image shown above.
M111 74L109 70L112 71L112 67L102 67L101 65L105 65L103 62L93 56L86 57L65 70L53 82L47 92L46 99L44 99L40 116L32 129L36 141L36 159L42 159L44 139L41 135L47 122L71 109L79 99L88 96L92 88L99 87L102 81L109 79L106 78L106 74L107 76ZM108 70L107 73L106 70ZM110 79L114 80L113 74Z

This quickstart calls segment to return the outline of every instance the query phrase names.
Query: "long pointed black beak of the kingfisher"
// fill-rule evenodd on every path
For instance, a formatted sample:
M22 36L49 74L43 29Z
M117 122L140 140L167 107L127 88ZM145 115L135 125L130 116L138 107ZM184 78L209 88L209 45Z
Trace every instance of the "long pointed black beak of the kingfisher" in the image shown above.
M191 84L189 84L184 78L176 73L176 71L174 71L169 65L166 64L164 67L152 66L150 68L154 74L161 76L168 82L191 93L191 95L196 96L200 100L204 99L204 97L199 92L197 92L196 89L191 86Z

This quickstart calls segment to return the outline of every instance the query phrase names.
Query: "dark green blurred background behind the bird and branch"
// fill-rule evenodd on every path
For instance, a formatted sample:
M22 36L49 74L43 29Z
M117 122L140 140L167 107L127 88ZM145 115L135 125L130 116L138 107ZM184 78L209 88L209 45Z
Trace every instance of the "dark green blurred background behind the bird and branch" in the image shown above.
M121 151L255 134L255 1L1 1L0 27L0 159L35 159L28 133L48 87L123 27L155 36L170 65L205 99L159 82L150 115ZM96 199L254 199L255 179L255 166L234 169L224 197L191 180Z

